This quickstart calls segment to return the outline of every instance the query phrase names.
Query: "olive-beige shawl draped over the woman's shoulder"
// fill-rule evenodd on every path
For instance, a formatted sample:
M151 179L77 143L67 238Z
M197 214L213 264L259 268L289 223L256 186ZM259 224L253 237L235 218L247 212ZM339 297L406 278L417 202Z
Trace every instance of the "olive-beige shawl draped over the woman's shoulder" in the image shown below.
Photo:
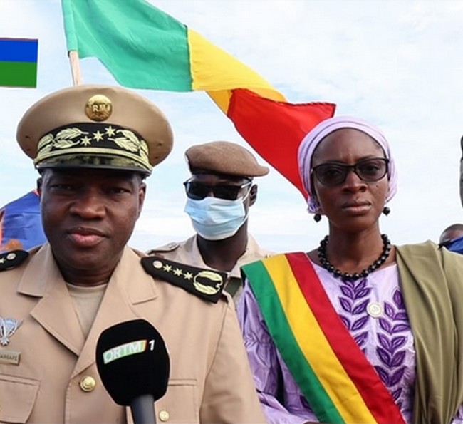
M463 403L463 256L410 244L397 266L415 338L414 423L450 423Z

